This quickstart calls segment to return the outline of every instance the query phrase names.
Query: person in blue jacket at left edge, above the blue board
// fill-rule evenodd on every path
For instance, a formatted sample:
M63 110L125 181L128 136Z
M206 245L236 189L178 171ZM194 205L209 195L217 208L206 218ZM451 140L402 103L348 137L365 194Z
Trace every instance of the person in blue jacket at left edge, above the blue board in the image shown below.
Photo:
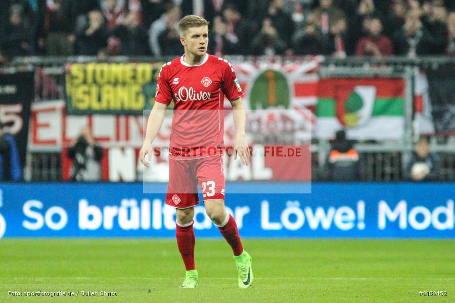
M13 136L6 133L3 126L0 122L0 181L20 181L19 150Z

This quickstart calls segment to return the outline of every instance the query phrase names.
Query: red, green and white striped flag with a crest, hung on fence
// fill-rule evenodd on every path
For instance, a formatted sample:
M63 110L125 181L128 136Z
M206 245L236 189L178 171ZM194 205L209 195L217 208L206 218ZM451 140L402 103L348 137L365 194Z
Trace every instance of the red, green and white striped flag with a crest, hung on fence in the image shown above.
M333 138L345 129L350 139L401 139L403 92L402 79L320 79L316 136Z

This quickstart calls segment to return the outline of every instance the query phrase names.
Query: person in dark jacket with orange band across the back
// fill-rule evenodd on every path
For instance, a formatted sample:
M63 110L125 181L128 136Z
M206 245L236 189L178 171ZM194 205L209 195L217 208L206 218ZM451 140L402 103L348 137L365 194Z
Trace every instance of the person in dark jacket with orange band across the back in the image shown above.
M326 180L345 182L361 180L360 156L352 141L346 139L344 130L337 131L324 167Z

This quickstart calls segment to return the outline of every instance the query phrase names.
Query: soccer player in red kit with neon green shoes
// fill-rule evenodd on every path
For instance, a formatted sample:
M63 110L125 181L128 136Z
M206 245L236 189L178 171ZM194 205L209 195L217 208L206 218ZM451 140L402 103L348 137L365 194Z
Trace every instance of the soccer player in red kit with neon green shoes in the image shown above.
M231 245L238 270L240 288L251 286L251 257L243 249L237 224L224 207L223 100L233 107L236 129L234 159L248 165L250 150L245 139L245 108L242 89L232 65L207 54L208 22L195 15L185 16L178 25L185 54L163 65L158 75L155 105L147 122L141 162L149 166L151 143L164 114L174 100L169 146L169 183L166 204L176 209L177 246L186 267L181 288L194 288L198 272L194 262L194 206L199 204L201 188L207 215Z

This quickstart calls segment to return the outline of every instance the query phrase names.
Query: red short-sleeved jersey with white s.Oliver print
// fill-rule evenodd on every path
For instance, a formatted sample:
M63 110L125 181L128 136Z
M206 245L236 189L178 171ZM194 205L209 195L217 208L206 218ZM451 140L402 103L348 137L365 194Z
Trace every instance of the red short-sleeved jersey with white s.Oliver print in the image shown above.
M197 65L184 56L163 65L158 75L155 102L174 100L169 158L202 158L223 148L223 100L242 96L232 65L205 55ZM215 153L213 153L215 151Z

